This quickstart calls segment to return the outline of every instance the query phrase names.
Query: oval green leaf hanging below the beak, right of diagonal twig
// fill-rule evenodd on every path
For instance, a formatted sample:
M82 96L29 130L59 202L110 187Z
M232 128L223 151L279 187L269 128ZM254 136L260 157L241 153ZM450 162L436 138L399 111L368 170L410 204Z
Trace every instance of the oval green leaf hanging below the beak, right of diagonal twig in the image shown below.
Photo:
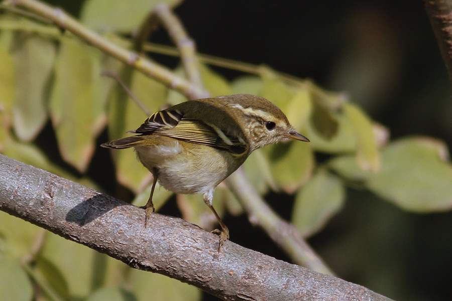
M295 197L292 222L303 237L311 236L342 208L344 199L342 181L319 169Z

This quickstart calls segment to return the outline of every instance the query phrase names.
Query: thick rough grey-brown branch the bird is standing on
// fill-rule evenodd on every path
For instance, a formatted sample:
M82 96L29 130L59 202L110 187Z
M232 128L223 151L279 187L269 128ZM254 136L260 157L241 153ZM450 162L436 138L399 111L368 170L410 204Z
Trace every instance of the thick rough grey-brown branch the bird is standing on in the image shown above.
M0 210L225 300L390 300L0 155ZM82 275L80 275L82 276Z

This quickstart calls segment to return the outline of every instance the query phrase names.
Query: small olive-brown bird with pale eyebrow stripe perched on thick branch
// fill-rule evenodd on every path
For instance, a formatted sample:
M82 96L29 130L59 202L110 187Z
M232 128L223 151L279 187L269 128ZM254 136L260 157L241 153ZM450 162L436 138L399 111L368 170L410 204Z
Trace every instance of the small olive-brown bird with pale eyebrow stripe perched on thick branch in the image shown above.
M221 231L216 230L218 251L229 239L229 230L212 207L215 187L257 148L289 139L309 141L295 131L276 105L249 94L182 102L154 113L130 132L137 135L101 146L134 147L140 162L154 176L145 225L154 212L152 195L157 180L175 193L202 193L221 226Z

